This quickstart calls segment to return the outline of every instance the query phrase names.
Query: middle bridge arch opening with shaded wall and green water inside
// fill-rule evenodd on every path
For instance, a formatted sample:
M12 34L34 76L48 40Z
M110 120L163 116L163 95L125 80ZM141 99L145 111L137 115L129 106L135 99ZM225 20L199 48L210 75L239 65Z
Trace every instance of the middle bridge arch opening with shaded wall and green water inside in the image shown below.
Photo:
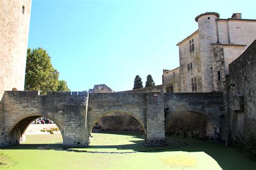
M126 125L127 127L125 127ZM96 143L94 143L94 140L96 140L96 138L98 137L101 138L102 136L104 136L106 143L109 143L110 145L112 145L113 143L118 145L127 144L126 143L127 140L130 140L130 141L136 140L135 141L136 143L138 142L143 144L143 141L146 137L145 122L129 111L120 111L120 110L113 110L113 111L105 112L104 114L100 114L91 123L88 132L90 134L89 136L90 145L95 145ZM106 133L111 133L112 135L114 135L116 139L115 141L113 139L113 143L111 140L108 139L108 136ZM109 135L111 136L111 134ZM122 135L126 137L124 138L122 137ZM127 136L131 136L131 137L127 137ZM118 139L121 137L124 140ZM110 138L112 139L112 137Z

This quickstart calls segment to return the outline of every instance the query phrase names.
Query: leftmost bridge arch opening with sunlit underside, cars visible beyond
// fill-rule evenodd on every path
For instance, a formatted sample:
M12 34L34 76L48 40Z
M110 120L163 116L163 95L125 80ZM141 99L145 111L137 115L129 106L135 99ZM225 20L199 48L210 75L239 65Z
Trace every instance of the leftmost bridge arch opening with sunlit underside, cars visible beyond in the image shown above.
M35 135L41 135L42 133L52 134L52 133L60 132L62 139L59 139L59 140L63 141L63 130L59 126L59 124L54 121L54 119L46 117L46 119L52 120L53 123L46 124L44 122L44 124L42 123L35 124L35 121L38 118L42 118L42 115L30 114L30 115L25 115L23 117L17 118L15 122L12 123L12 125L10 126L7 132L7 137L9 138L9 145L16 145L26 141L26 130L28 130L29 127L30 127L29 129L31 130L30 134L35 134ZM44 119L44 121L46 120ZM40 137L43 138L43 136L40 136Z

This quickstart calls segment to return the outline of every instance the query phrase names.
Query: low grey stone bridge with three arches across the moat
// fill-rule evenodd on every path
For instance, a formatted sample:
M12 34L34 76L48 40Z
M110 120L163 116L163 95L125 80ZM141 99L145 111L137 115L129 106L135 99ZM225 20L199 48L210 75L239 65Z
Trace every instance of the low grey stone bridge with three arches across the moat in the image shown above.
M165 145L165 119L181 111L203 114L215 133L221 125L221 93L108 93L5 91L0 104L0 146L19 144L38 117L54 121L64 147L86 147L95 123L104 115L124 112L136 118L145 133L144 144Z

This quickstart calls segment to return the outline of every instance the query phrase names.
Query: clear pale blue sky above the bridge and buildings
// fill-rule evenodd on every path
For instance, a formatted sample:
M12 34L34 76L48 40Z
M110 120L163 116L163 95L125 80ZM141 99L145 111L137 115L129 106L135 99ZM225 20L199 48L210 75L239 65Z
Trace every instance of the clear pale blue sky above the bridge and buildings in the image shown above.
M106 84L130 90L136 75L161 84L179 66L176 44L198 29L194 18L218 12L256 19L256 1L32 1L29 44L43 47L72 91Z

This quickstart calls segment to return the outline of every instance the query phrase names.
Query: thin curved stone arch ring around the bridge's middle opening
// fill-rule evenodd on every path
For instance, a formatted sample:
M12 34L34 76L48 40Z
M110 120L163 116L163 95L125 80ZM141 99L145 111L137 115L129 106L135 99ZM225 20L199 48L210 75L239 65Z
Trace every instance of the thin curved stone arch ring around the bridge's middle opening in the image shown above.
M89 132L88 134L91 133L93 127L95 126L96 122L99 121L99 119L101 119L103 116L105 116L107 114L111 114L111 113L115 113L115 112L123 112L125 114L128 114L128 115L134 117L139 122L139 124L142 126L144 134L146 134L146 123L140 117L136 116L135 114L132 114L131 112L124 111L124 110L111 110L111 111L104 112L103 114L99 114L99 116L97 116L92 122L89 122L90 125L88 127L88 132Z

